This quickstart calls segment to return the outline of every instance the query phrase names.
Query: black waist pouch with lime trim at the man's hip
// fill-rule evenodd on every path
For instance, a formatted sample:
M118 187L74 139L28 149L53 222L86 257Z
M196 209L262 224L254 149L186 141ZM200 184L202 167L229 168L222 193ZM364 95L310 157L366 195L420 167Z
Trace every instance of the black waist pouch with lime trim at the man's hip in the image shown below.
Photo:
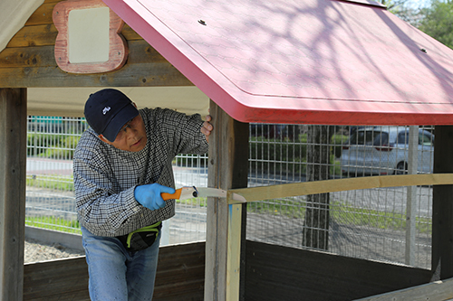
M159 235L159 230L162 228L162 221L158 221L147 227L140 228L126 235L117 236L124 248L130 252L136 252L142 249L147 249Z

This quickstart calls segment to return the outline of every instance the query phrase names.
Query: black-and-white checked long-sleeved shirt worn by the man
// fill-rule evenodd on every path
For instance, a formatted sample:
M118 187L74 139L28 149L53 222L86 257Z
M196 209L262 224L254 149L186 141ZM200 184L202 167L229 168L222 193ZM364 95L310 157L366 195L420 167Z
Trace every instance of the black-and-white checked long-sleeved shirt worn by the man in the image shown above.
M74 190L82 226L98 236L120 236L175 215L175 201L151 211L134 198L137 185L175 187L171 161L178 154L206 154L200 116L170 109L140 109L148 141L128 152L101 141L87 129L73 159Z

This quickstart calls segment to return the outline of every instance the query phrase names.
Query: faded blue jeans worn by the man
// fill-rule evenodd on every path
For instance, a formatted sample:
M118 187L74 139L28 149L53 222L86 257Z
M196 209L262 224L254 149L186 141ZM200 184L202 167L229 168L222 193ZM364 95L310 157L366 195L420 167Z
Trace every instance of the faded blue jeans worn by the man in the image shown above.
M91 299L151 300L158 267L159 240L160 232L148 249L129 252L120 240L92 235L82 227Z

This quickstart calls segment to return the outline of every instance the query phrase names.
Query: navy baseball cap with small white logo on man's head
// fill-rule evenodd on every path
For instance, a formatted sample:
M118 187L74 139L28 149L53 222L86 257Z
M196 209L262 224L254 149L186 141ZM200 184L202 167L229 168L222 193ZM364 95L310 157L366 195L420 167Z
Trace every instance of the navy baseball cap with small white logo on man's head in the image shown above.
M90 95L83 113L96 134L113 142L120 129L139 115L139 110L120 90L101 89Z

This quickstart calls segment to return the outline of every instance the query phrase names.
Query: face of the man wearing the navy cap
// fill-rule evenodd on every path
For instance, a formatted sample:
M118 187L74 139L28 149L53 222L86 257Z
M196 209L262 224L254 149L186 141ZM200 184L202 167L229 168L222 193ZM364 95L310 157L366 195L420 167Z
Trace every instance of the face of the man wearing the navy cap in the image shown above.
M101 135L100 138L111 146L129 152L140 152L147 142L145 124L140 114L121 127L115 141L111 142Z

